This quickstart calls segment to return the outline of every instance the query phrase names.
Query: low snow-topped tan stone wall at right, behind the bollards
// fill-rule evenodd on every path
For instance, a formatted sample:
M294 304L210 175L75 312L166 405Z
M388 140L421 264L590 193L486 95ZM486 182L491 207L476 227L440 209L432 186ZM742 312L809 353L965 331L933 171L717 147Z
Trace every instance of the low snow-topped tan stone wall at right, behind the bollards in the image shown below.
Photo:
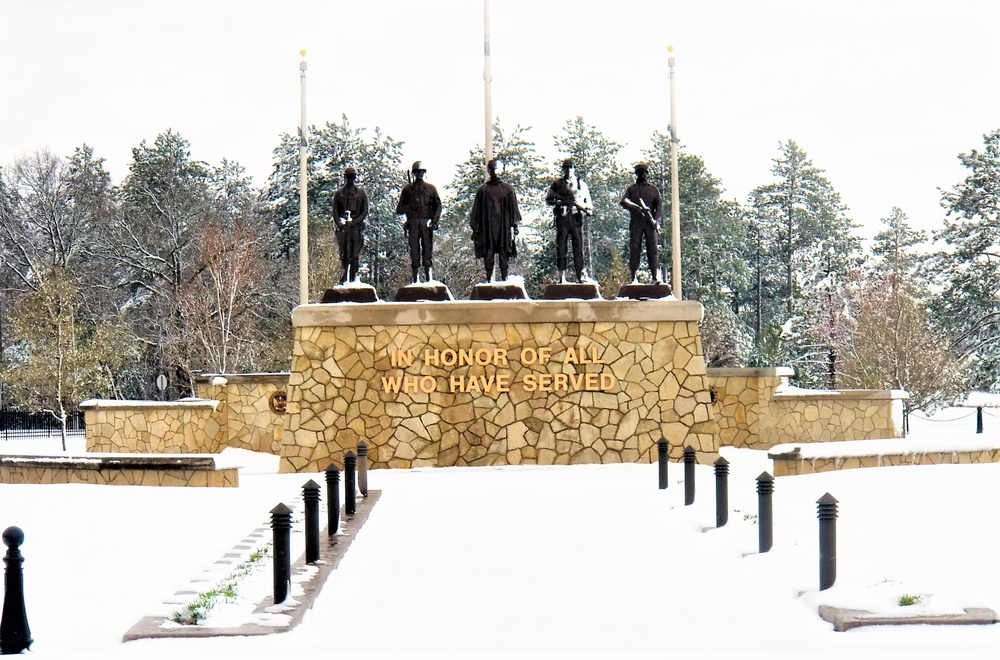
M774 462L776 477L893 465L1000 463L1000 440L890 438L786 443L772 447L767 457Z

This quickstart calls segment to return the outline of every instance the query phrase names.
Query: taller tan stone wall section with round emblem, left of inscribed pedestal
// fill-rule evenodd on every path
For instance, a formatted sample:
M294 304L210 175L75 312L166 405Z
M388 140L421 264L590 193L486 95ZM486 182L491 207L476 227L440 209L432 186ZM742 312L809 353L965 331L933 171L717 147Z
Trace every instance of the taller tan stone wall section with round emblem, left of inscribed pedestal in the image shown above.
M281 453L288 373L203 374L198 397L220 402L223 446Z

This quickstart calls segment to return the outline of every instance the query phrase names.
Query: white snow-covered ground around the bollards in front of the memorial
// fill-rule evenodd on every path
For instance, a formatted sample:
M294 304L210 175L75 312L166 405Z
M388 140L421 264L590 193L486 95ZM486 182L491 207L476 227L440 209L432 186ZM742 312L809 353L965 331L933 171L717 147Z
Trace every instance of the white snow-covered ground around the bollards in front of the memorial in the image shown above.
M912 418L911 437L948 446L975 435L974 413ZM986 417L986 435L1000 436L1000 418ZM34 657L997 657L1000 624L836 633L816 609L1000 611L1000 464L780 477L774 549L760 555L755 478L770 462L723 454L722 529L710 466L688 507L677 464L665 491L655 465L372 471L382 499L315 606L265 637L120 641L322 475L227 451L246 466L238 489L0 484L0 527L25 533ZM840 501L838 577L819 592L826 492ZM903 595L921 602L900 607Z

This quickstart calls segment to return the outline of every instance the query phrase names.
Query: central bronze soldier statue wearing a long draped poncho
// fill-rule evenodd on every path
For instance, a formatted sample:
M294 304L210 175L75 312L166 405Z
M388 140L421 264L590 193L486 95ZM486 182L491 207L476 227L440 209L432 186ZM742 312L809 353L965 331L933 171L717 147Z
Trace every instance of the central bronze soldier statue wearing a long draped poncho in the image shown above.
M517 257L514 237L520 231L521 212L517 208L514 188L497 176L495 158L487 163L486 171L490 178L476 191L469 226L476 258L483 260L486 281L492 282L495 258L499 257L500 261L500 279L506 280L510 260Z

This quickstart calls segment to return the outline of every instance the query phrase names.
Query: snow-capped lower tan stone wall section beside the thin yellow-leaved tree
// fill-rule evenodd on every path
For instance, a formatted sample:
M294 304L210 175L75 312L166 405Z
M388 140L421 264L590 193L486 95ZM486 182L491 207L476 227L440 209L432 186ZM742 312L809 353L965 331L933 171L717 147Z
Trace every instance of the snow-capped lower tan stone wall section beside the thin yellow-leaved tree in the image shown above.
M80 404L87 425L87 451L157 454L218 453L226 438L219 402L118 401Z

